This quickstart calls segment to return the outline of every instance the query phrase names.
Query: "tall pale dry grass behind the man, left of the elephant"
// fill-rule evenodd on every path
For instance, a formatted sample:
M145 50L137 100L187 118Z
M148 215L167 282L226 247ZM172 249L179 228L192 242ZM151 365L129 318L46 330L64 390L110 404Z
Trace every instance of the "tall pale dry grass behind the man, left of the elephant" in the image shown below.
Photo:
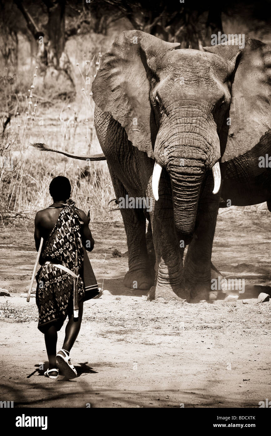
M99 53L77 63L82 84L74 102L50 102L44 95L36 94L40 92L35 88L37 68L33 79L29 79L27 95L16 94L16 115L0 137L0 225L33 222L36 212L51 204L49 184L57 175L69 178L71 198L78 208L86 212L90 209L92 221L120 220L119 211L111 211L108 206L115 194L105 161L74 160L41 152L29 145L47 143L86 156L101 151L94 129L94 102L90 90L100 57ZM12 89L6 88L5 92L11 93ZM2 124L5 117L7 110L2 113Z

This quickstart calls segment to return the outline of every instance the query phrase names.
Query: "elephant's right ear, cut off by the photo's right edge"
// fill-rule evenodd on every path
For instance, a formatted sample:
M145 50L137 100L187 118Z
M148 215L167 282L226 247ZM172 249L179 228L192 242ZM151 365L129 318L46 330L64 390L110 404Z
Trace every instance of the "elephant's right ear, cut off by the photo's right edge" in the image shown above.
M245 38L238 45L214 45L205 51L225 60L236 58L232 75L231 108L224 120L221 138L221 161L231 160L251 150L261 138L271 134L271 51L256 39ZM241 51L238 56L238 52ZM266 140L266 136L265 136Z

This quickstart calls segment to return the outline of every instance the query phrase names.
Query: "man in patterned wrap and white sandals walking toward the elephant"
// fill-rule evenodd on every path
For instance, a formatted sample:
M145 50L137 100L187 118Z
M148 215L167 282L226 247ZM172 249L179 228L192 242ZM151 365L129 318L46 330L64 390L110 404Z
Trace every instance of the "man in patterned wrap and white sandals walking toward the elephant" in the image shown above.
M67 177L58 176L50 183L53 204L37 212L35 217L36 249L43 237L40 270L37 272L36 303L39 310L38 329L44 334L49 360L46 377L58 378L59 370L66 378L77 376L70 362L70 350L80 330L83 303L99 295L87 252L94 247L90 216L77 209L69 200L71 186ZM76 255L77 252L77 255ZM77 257L78 318L73 314L74 268ZM69 318L63 347L57 353L57 331Z

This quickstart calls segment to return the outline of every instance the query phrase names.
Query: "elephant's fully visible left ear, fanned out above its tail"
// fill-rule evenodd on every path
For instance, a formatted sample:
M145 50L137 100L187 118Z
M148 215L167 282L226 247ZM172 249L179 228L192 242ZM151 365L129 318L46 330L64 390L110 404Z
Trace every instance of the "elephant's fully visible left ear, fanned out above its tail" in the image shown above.
M97 106L111 112L128 139L139 150L154 157L154 116L151 110L151 68L166 51L178 43L169 43L141 32L125 31L104 54L99 71L92 84Z

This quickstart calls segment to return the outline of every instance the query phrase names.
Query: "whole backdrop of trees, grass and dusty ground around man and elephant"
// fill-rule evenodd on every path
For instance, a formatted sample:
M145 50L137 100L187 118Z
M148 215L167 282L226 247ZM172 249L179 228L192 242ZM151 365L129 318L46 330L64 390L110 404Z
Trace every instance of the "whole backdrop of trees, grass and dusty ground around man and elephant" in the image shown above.
M209 303L151 303L148 291L123 284L126 235L120 211L108 205L115 195L107 163L30 146L100 152L91 82L121 31L140 29L182 48L211 45L219 31L271 44L269 10L261 0L0 0L1 401L41 408L256 408L271 400L271 303L257 304L261 292L271 295L266 204L219 211L212 260L224 277L245 280L237 301L224 301L221 292ZM35 294L30 303L25 296L37 255L33 218L52 201L49 183L60 174L70 179L76 205L90 209L90 260L104 294L84 304L72 351L79 377L50 383Z

